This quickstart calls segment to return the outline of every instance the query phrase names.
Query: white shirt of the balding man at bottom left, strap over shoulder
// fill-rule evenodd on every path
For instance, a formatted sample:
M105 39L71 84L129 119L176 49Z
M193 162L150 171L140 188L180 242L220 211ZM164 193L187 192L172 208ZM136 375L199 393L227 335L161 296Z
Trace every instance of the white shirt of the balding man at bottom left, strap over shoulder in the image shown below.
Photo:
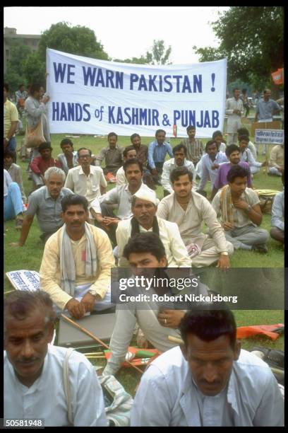
M41 376L28 388L18 381L4 352L4 417L44 418L45 427L68 426L63 383L67 349L49 346ZM83 354L73 351L69 358L69 383L73 425L107 426L102 388L95 369Z

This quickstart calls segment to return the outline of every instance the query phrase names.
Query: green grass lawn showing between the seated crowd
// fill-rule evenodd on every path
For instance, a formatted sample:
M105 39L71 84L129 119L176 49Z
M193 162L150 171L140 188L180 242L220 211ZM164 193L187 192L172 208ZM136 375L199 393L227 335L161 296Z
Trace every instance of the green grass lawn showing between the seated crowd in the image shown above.
M249 128L250 129L250 128ZM52 147L53 156L61 152L60 142L66 135L70 134L52 134ZM23 137L17 137L18 147L20 148L20 140ZM154 137L143 137L142 144L149 144ZM80 147L88 147L91 149L93 154L98 154L102 147L107 146L107 137L93 137L90 135L81 135L79 138L71 138L74 149ZM170 144L175 146L179 144L181 139L172 138ZM207 142L208 139L203 139L203 142ZM120 146L130 145L129 137L119 137L118 144ZM263 161L263 156L258 157L258 161ZM26 195L32 189L32 183L27 179L27 163L20 162L18 158L18 164L23 169L23 182ZM107 189L110 189L113 185L109 185ZM280 178L268 176L263 173L261 168L260 173L257 173L253 178L253 186L257 189L272 189L282 190L282 183ZM162 188L157 187L157 197L162 199ZM37 270L40 269L43 253L43 243L40 241L40 229L37 226L37 221L32 223L30 233L26 244L22 248L13 248L8 246L9 242L16 242L19 239L19 233L14 229L14 221L6 221L4 224L4 272L11 270ZM270 231L270 215L263 216L263 222L261 224L263 229ZM284 250L276 241L271 238L268 241L269 252L267 255L260 255L259 253L251 253L249 251L237 250L234 252L231 258L232 267L284 267ZM4 277L4 293L11 290L11 284L8 279ZM242 325L257 325L257 324L272 324L272 323L284 323L284 311L263 311L263 310L247 310L247 311L235 311L236 323L239 326ZM243 347L248 349L253 345L262 345L265 347L272 347L282 349L284 348L284 337L280 336L277 340L272 341L268 337L253 337L247 340L242 340ZM99 361L99 360L97 360ZM94 362L97 364L104 364L104 362ZM140 379L140 374L135 370L121 369L117 375L121 383L124 384L126 390L134 395L136 384Z

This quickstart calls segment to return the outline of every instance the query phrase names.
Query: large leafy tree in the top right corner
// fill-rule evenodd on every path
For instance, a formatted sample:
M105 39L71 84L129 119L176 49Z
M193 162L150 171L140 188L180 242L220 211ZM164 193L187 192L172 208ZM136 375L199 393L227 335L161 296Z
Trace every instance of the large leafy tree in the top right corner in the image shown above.
M275 89L270 74L284 64L282 6L231 6L212 28L220 46L193 47L200 62L227 57L228 81L241 79L255 88L266 83Z

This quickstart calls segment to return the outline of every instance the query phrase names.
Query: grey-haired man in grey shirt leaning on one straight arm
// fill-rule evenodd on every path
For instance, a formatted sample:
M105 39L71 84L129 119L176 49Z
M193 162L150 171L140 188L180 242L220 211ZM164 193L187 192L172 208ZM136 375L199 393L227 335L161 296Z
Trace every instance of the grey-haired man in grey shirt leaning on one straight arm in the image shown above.
M10 246L24 246L34 216L37 216L42 234L40 238L44 243L47 239L63 226L61 218L61 201L66 195L73 194L68 188L64 188L65 173L61 168L50 167L44 174L45 186L32 192L28 200L28 209L23 220L19 242L11 242Z

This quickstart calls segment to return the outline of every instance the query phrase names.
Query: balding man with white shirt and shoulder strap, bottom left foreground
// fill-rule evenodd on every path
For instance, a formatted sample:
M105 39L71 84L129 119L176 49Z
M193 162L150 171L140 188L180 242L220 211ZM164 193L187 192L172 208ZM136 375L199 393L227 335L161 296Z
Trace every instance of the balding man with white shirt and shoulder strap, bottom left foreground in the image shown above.
M42 291L13 291L4 305L4 417L43 419L43 427L107 426L102 388L80 352L68 361L73 419L64 391L68 349L49 345L55 313Z

